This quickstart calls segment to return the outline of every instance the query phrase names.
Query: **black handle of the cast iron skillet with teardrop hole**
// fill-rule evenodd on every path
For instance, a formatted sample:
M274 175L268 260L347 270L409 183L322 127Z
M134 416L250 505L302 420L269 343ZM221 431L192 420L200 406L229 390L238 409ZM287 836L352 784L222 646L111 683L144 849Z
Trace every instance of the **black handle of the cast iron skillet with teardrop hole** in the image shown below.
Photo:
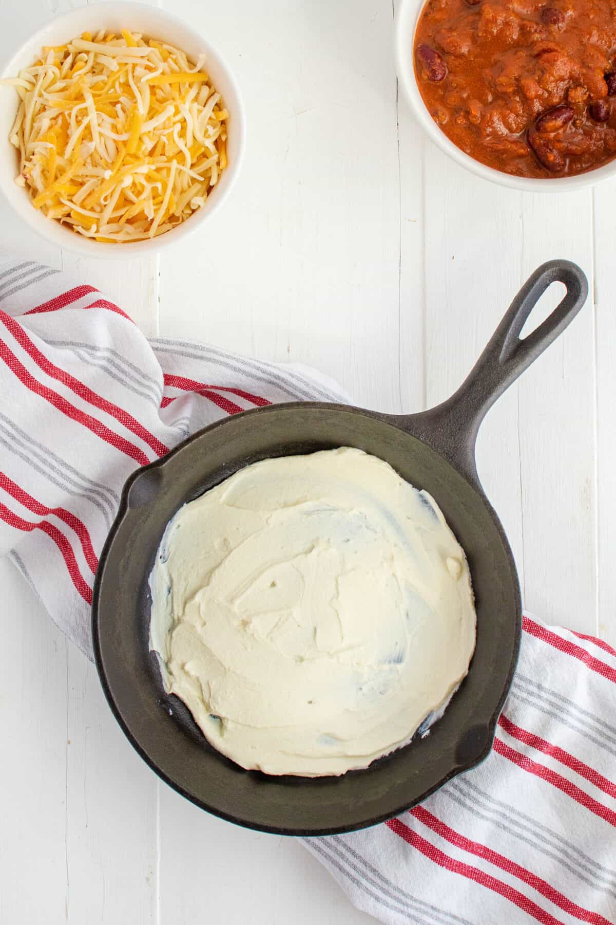
M554 311L526 338L526 318L545 290L562 282L566 294ZM550 260L535 270L513 299L464 383L447 401L427 412L408 414L398 424L441 452L477 486L477 432L492 404L573 321L586 302L588 281L568 260Z

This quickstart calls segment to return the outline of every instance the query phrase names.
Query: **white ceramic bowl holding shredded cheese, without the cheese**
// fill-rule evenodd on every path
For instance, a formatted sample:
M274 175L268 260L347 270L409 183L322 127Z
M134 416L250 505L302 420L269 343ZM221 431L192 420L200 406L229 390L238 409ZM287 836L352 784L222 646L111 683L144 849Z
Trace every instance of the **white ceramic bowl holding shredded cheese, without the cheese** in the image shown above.
M59 45L80 35L81 32L96 32L100 29L119 32L128 29L142 32L151 38L164 39L186 52L188 58L197 60L199 54L206 56L206 68L216 90L222 94L224 105L229 110L228 121L228 166L223 170L215 189L206 203L197 209L176 228L152 240L132 243L107 243L83 238L70 228L45 217L30 202L26 190L18 187L15 178L18 173L18 157L15 148L8 141L18 107L17 93L12 87L0 87L0 190L6 196L20 218L30 225L42 238L59 247L75 251L88 257L135 257L155 253L197 231L220 208L236 180L241 165L246 139L244 106L237 89L236 80L216 52L199 32L187 23L176 19L156 6L128 3L119 0L112 3L97 3L80 6L64 16L58 16L35 32L21 45L15 55L2 68L2 77L15 77L19 68L32 64L41 53L42 45Z

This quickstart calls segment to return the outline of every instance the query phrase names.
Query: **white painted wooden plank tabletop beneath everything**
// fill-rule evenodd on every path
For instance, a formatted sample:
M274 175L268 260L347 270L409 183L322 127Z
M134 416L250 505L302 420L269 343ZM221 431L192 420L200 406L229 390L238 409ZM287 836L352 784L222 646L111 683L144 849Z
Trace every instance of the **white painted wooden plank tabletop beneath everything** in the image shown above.
M77 3L10 5L0 54ZM4 210L0 245L79 272L147 333L314 364L391 412L449 394L531 270L573 259L593 295L489 413L478 469L526 608L615 643L616 185L525 195L446 160L397 98L391 0L164 3L243 89L232 200L160 264L60 253ZM160 783L6 561L0 582L2 925L372 921L292 839L216 820Z

